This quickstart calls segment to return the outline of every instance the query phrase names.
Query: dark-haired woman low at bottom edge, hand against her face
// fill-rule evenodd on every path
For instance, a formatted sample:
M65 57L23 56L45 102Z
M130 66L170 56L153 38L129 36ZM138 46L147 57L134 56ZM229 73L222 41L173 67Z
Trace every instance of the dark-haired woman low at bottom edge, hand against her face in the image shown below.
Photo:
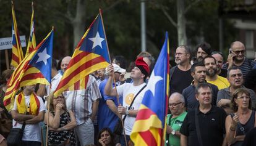
M121 146L114 142L114 134L109 128L103 128L98 134L98 146Z

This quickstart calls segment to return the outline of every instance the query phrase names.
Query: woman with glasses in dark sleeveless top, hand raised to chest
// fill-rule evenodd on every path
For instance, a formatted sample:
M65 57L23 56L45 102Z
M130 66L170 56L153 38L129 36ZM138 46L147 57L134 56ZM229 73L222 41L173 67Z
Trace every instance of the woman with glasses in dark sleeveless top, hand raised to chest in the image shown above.
M239 88L234 91L231 99L234 113L226 117L226 141L228 145L242 145L245 134L256 126L255 112L252 111L250 93Z

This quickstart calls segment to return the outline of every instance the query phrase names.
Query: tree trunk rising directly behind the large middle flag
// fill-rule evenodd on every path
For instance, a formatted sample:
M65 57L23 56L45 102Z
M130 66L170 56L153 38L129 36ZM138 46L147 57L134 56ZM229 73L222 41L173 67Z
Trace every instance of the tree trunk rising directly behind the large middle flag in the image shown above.
M77 0L75 18L72 22L74 33L74 49L85 33L85 0Z

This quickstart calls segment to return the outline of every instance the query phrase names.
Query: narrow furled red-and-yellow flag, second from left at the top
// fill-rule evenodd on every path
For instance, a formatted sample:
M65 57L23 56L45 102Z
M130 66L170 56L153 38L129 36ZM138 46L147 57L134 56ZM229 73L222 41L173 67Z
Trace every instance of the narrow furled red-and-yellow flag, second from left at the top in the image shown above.
M27 51L26 55L30 54L30 52L33 51L36 47L36 39L35 39L35 27L34 27L34 7L33 7L33 2L32 2L32 15L31 15L31 22L30 22L30 34L28 38L28 46L27 46Z

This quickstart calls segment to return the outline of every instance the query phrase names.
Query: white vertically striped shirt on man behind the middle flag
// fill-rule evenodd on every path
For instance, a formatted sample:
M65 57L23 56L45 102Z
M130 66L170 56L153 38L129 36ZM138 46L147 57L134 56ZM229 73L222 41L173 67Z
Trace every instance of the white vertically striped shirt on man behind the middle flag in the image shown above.
M84 79L80 81L85 81ZM81 84L80 84L81 86ZM85 123L92 115L93 102L101 98L100 90L93 76L89 76L86 89L64 92L68 110L75 114L77 125Z

